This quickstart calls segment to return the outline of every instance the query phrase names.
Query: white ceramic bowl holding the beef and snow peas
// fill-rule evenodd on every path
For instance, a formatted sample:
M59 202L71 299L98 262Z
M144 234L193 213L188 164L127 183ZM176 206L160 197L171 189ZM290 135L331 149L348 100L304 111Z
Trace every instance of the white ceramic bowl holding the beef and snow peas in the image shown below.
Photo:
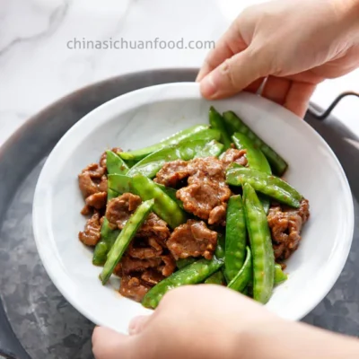
M328 144L301 118L250 93L223 101L201 98L196 83L171 83L127 93L74 125L48 157L36 188L33 228L40 258L58 290L88 319L127 332L129 320L151 312L102 286L92 251L78 241L85 218L77 174L111 147L136 149L176 131L207 123L209 106L237 112L289 163L285 178L310 200L311 219L299 250L287 262L289 279L267 308L299 320L328 293L350 249L354 210L346 175ZM175 310L175 309L174 309Z

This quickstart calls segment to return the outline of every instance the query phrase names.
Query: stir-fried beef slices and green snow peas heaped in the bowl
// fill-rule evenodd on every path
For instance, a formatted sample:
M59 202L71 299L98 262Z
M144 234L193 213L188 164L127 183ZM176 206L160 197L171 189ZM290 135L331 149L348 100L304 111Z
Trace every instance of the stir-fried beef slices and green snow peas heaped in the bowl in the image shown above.
M284 282L309 202L285 160L232 111L141 150L113 148L78 176L90 215L79 239L101 282L155 308L180 285L227 285L267 302ZM273 173L272 173L273 172Z

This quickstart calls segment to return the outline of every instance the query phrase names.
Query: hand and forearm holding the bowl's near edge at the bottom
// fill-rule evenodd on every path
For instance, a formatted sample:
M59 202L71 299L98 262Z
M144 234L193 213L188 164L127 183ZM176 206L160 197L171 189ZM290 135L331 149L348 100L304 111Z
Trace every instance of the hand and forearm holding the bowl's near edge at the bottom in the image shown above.
M131 322L129 334L95 328L92 350L96 359L359 357L356 339L281 320L220 285L172 290L151 316Z

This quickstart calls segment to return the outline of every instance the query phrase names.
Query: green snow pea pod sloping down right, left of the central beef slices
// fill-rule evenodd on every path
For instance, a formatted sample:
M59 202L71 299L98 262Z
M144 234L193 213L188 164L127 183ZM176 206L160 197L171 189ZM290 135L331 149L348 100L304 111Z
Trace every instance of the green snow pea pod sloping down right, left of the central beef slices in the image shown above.
M147 177L134 176L130 188L130 192L141 197L143 201L153 198L153 212L167 222L171 228L176 228L187 221L187 215L180 206Z

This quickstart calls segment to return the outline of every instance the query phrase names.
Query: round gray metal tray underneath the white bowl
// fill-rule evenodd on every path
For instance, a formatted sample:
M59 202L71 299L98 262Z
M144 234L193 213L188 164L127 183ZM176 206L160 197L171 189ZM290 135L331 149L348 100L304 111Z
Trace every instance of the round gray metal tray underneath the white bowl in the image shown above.
M150 71L95 83L41 111L0 148L0 296L4 306L0 303L0 355L19 359L92 358L93 324L57 291L35 248L31 206L39 172L61 136L103 102L157 83L193 81L196 73L196 69ZM358 197L359 150L346 140L358 138L335 118L322 122L313 116L306 119L337 153ZM335 206L330 198L328 206ZM355 199L355 240L345 270L325 300L304 319L353 335L359 327L357 219Z

